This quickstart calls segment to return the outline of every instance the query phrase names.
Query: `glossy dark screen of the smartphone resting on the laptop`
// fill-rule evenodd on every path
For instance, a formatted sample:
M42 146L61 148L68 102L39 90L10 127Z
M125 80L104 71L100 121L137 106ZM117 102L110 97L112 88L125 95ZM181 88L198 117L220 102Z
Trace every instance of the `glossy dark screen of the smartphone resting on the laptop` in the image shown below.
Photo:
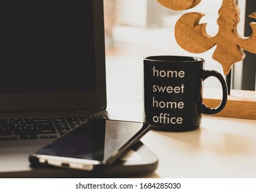
M91 119L36 154L107 162L148 130L145 123Z

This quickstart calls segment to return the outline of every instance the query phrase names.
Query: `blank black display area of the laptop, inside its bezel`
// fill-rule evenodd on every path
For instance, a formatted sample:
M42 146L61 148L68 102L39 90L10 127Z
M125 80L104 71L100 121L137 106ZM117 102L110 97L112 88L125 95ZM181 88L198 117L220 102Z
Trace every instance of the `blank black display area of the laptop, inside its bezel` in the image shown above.
M95 91L92 1L0 1L0 93Z

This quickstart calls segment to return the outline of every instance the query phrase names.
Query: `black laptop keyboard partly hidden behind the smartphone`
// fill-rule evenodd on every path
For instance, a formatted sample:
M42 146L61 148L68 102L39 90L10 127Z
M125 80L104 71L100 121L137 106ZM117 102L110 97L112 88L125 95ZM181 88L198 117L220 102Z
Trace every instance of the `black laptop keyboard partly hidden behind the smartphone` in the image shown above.
M0 141L56 139L88 119L108 118L105 115L86 115L0 119Z

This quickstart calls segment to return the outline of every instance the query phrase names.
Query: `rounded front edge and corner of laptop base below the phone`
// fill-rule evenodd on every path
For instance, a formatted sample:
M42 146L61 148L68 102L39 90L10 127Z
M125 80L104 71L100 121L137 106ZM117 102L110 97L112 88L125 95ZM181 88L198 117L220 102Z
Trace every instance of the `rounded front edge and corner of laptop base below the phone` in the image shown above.
M31 167L27 171L2 172L0 178L107 178L141 176L152 173L158 166L158 158L141 141L115 165L103 173L62 169L56 167Z

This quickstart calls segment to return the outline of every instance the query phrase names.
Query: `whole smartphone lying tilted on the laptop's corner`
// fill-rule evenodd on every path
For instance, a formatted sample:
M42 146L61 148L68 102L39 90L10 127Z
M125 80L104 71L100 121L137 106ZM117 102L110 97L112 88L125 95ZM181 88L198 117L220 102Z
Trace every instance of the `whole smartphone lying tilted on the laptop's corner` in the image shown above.
M32 165L102 170L149 130L148 123L90 119L31 154L29 160Z

